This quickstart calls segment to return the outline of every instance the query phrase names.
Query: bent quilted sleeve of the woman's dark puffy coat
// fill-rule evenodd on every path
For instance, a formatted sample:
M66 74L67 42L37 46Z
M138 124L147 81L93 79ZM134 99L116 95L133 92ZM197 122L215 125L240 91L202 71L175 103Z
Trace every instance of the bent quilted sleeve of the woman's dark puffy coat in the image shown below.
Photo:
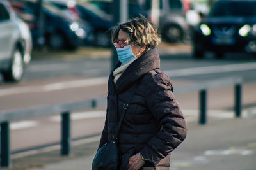
M141 150L143 157L156 165L186 138L186 122L164 73L151 76L147 84L147 106L161 130Z

